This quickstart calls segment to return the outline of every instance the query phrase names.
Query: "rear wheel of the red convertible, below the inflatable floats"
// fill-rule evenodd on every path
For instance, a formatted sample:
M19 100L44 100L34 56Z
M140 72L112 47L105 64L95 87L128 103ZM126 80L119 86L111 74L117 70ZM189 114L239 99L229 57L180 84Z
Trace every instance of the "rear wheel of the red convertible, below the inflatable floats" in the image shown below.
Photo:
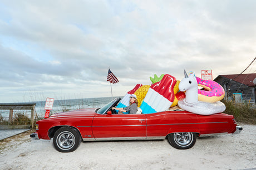
M192 132L171 133L167 137L170 145L179 150L193 147L196 141L196 133Z

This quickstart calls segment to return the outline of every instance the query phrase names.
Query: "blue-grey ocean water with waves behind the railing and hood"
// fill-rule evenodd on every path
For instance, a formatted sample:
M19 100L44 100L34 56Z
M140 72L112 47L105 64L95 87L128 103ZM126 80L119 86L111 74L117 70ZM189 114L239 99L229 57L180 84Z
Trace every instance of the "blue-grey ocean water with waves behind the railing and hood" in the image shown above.
M113 97L115 99L116 97ZM122 98L122 97L121 97ZM106 105L112 100L112 97L98 97L98 98L86 98L86 99L66 99L66 100L55 100L53 102L53 107L51 114L63 111L72 111L77 109L87 109L87 108L99 108ZM46 101L35 101L36 110L35 115L37 117L45 117L45 104ZM17 113L26 114L27 117L31 117L31 110L13 110L13 117ZM0 117L3 120L8 120L9 110L0 110Z

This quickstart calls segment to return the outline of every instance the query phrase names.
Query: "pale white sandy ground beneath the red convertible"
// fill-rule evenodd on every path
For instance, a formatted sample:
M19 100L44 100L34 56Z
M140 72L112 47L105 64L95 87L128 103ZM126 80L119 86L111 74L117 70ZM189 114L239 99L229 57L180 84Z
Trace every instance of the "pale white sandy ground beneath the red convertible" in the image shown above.
M30 132L0 142L0 169L250 169L256 168L256 126L240 123L238 135L198 137L189 150L167 140L81 142L61 153L52 140Z

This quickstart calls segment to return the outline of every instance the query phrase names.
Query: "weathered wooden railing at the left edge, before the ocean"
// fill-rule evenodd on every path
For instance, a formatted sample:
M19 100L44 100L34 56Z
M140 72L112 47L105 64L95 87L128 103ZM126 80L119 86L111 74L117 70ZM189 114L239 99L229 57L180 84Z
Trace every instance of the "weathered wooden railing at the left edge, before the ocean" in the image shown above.
M13 110L31 110L31 126L34 126L35 102L27 103L0 103L0 110L9 110L9 123L12 122Z

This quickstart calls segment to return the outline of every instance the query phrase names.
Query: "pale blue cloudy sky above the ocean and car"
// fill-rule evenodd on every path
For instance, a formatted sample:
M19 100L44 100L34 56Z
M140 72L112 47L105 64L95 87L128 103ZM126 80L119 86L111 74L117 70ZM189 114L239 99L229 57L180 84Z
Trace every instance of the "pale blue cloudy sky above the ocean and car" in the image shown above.
M0 0L0 102L114 96L183 70L240 74L256 1ZM245 73L256 73L254 62Z

